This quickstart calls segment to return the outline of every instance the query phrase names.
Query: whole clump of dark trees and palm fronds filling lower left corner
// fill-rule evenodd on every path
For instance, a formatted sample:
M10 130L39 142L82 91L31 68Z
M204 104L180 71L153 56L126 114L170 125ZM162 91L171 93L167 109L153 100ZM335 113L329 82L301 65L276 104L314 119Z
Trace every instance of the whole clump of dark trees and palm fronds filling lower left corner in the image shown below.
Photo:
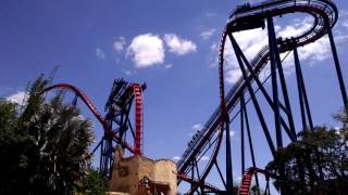
M86 173L92 123L40 76L20 105L0 100L0 194L69 194Z

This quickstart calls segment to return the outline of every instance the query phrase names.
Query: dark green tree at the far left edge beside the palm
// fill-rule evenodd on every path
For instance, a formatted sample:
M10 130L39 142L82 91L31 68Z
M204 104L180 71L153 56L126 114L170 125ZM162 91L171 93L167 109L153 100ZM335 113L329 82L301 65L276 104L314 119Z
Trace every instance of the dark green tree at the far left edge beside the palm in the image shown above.
M17 131L17 105L2 99L0 101L0 194L16 190L18 183L22 183L22 187L28 188L27 154L33 141L28 135Z

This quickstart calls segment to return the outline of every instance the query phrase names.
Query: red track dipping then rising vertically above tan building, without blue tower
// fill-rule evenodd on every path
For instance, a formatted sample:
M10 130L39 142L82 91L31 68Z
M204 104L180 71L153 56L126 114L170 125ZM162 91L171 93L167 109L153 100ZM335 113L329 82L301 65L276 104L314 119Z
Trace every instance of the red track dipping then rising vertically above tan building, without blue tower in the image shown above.
M123 141L122 145L124 145L125 148L127 148L132 154L142 155L142 98L141 98L142 90L138 83L133 83L133 84L130 84L130 87L133 88L133 92L135 95L135 102L136 102L136 105L135 105L136 106L136 110L135 110L136 138L135 138L135 142L134 142L134 147L125 141ZM58 84L53 84L53 86L46 88L44 93L51 91L53 89L66 89L66 90L73 91L78 98L80 98L83 100L83 102L87 105L89 110L96 116L96 118L102 125L105 135L108 135L110 138L115 138L116 140L122 140L119 138L119 135L116 133L114 133L109 128L108 122L104 119L104 117L101 116L101 114L94 106L91 101L88 99L88 96L82 90L79 90L78 88L76 88L72 84L69 84L69 83L58 83Z

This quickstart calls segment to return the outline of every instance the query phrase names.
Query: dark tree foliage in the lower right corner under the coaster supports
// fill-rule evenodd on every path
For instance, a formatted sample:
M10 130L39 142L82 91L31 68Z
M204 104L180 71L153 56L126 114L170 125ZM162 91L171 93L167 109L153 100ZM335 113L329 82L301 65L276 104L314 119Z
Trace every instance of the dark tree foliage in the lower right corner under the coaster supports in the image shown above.
M266 170L285 176L276 186L289 194L346 194L348 192L347 112L335 116L343 128L315 127L298 134L298 141L277 152Z

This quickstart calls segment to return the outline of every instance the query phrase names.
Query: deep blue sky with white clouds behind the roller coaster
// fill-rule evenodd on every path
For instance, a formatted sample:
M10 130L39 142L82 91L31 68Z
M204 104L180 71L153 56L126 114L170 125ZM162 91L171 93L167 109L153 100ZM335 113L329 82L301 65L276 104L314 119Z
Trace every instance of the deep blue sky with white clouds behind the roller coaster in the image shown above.
M0 96L18 100L28 80L60 69L54 82L82 89L100 112L115 78L147 82L145 91L145 154L174 158L185 151L190 135L219 103L216 46L236 4L244 1L124 1L124 0L3 0L0 2ZM346 84L348 3L338 4L336 43ZM307 29L311 18L295 14L275 20L279 36ZM262 29L236 34L251 58L266 42ZM229 52L228 52L229 51ZM226 82L232 87L239 70L227 50ZM331 116L340 108L330 46L326 38L300 49L313 119L336 126ZM297 93L291 56L285 69L296 107ZM270 89L270 84L268 84ZM264 104L264 113L269 118ZM252 107L249 107L252 113ZM83 107L84 115L92 117ZM298 108L294 108L299 126ZM94 119L94 118L92 118ZM96 136L101 127L96 122ZM271 119L270 119L271 121ZM251 119L260 167L270 159L257 119ZM235 177L240 177L238 125L232 125ZM250 164L249 164L250 165Z

